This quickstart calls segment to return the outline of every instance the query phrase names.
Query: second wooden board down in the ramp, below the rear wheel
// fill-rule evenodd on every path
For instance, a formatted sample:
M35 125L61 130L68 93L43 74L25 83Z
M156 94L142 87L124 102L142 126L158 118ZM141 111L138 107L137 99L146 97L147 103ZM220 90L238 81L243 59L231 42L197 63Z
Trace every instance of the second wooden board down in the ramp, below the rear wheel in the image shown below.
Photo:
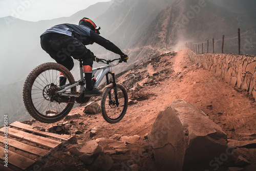
M4 127L0 129L0 132L4 133ZM38 145L42 145L48 148L54 148L61 144L61 142L52 140L45 137L40 137L38 135L29 134L23 131L19 131L16 129L13 129L12 127L8 127L8 135L11 135L16 138L24 139L33 143L36 143Z

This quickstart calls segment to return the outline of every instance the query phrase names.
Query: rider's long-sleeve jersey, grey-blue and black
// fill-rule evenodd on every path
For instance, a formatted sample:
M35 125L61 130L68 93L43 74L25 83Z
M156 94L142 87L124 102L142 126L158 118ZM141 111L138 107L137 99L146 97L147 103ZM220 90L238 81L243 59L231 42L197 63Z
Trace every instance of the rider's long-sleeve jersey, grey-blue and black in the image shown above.
M66 34L68 36L74 36L78 38L84 46L96 42L96 44L104 47L109 51L112 51L119 55L124 55L124 53L116 45L113 44L113 42L105 39L96 32L92 31L89 27L84 25L78 26L74 24L60 24L46 30L44 33L42 33L42 35L46 33L59 33Z

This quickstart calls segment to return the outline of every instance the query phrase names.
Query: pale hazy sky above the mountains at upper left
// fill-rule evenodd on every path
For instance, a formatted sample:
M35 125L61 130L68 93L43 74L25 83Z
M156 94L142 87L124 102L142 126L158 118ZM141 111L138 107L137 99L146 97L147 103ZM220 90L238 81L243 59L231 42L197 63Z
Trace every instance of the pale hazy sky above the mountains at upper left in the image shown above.
M0 17L14 16L36 22L71 16L98 2L111 0L0 0Z

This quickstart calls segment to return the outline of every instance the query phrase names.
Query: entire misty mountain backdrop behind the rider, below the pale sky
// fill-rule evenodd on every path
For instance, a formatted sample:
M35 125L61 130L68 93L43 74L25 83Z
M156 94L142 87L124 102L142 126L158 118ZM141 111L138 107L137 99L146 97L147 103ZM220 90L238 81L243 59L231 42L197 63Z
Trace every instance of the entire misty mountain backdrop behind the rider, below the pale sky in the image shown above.
M220 52L222 35L225 35L224 52L236 53L238 28L241 29L242 53L256 54L253 48L255 29L249 29L256 23L255 5L253 0L113 0L97 3L70 17L52 20L27 22L13 17L0 18L0 112L24 116L24 110L15 108L14 104L23 103L22 82L29 72L42 62L53 61L40 48L39 36L54 25L77 24L82 17L93 19L101 26L101 35L130 56L129 62L114 68L119 73L145 59L176 50L185 42L201 45L215 37L216 52ZM247 47L247 41L252 48ZM115 56L97 44L88 48L98 57ZM72 74L76 76L78 71L74 69ZM9 97L4 99L6 96Z

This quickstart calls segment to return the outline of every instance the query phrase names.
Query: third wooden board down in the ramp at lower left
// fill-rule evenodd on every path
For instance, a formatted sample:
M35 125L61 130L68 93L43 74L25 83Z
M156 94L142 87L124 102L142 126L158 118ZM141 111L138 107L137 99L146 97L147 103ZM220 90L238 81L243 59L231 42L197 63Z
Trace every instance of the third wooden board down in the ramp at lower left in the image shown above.
M5 138L0 136L0 142L4 143L5 142ZM49 151L47 151L46 149L42 149L42 148L38 148L35 146L31 146L16 140L12 140L9 139L8 140L8 145L13 146L15 148L18 149L22 149L23 151L38 155L38 156L46 156L48 153L50 153Z

